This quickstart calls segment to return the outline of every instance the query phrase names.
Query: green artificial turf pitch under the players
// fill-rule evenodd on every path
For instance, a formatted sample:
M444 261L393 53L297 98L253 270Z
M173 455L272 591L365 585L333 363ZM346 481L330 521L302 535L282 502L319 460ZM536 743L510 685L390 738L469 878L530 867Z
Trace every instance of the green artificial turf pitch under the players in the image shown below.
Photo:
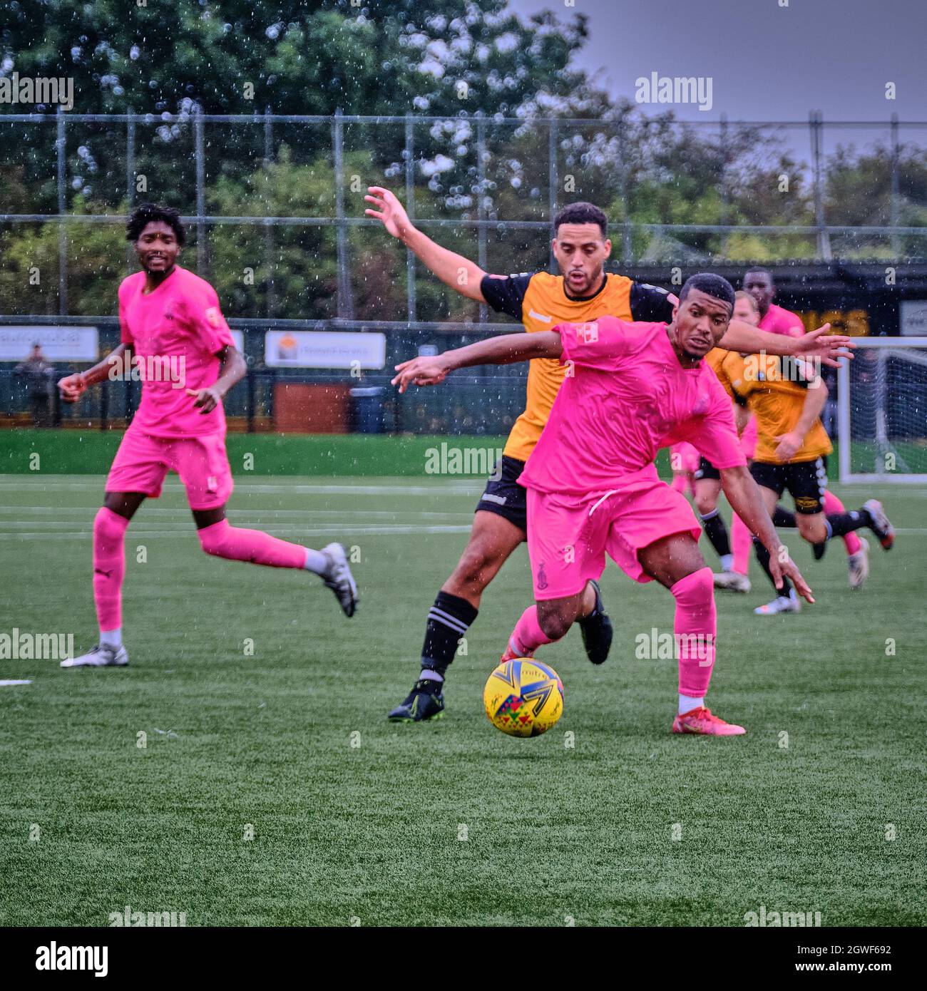
M0 633L94 642L101 490L0 477ZM709 702L746 737L670 734L675 663L635 646L672 630L672 598L614 565L608 663L571 631L539 655L565 683L560 722L493 728L482 686L530 601L523 548L445 717L390 723L479 490L239 476L233 523L359 549L352 620L314 576L206 557L175 479L146 504L126 541L130 667L0 661L0 678L33 679L0 688L0 925L105 926L127 905L188 926L743 926L761 906L924 925L923 490L839 490L848 507L879 495L899 529L889 554L870 536L863 592L840 542L816 564L792 534L816 606L753 616L769 598L755 564L752 594L719 594Z

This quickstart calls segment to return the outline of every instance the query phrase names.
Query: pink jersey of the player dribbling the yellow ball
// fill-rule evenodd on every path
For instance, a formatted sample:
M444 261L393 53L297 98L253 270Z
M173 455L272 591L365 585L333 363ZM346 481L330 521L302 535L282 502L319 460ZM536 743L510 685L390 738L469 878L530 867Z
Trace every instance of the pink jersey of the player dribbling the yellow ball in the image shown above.
M527 489L606 492L688 441L716 468L746 464L731 399L705 362L684 369L665 323L604 316L561 323L563 385L519 482Z

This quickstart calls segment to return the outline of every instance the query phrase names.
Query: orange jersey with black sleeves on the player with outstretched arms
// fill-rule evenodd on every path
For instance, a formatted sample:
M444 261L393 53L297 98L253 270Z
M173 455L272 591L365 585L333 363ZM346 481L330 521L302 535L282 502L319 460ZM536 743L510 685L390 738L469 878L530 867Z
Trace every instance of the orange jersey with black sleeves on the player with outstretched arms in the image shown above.
M486 275L480 288L494 310L521 320L529 334L553 330L560 323L583 323L601 316L666 323L672 319L672 303L665 290L635 282L626 275L606 275L599 291L585 299L567 295L563 276L546 272ZM565 374L566 367L556 359L535 358L530 362L524 412L516 420L503 454L527 461Z

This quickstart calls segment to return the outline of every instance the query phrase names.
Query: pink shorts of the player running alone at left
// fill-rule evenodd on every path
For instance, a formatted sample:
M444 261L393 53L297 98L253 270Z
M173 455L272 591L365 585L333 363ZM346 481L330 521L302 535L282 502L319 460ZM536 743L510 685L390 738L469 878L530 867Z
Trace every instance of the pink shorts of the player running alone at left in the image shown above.
M215 509L232 495L224 434L153 437L131 427L109 470L106 492L145 493L158 498L169 471L180 476L191 509Z

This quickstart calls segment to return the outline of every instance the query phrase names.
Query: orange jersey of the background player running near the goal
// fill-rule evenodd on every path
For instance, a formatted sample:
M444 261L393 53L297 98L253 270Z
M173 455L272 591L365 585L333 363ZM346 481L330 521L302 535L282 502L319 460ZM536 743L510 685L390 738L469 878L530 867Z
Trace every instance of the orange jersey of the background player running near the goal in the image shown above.
M720 352L719 356L715 352ZM808 386L790 377L788 361L783 363L777 355L748 355L742 358L736 351L715 348L709 358L721 385L734 397L747 402L756 418L756 461L781 464L775 456L781 434L793 429L801 416L808 394ZM805 434L804 443L788 464L798 461L814 461L830 454L831 445L820 418Z

